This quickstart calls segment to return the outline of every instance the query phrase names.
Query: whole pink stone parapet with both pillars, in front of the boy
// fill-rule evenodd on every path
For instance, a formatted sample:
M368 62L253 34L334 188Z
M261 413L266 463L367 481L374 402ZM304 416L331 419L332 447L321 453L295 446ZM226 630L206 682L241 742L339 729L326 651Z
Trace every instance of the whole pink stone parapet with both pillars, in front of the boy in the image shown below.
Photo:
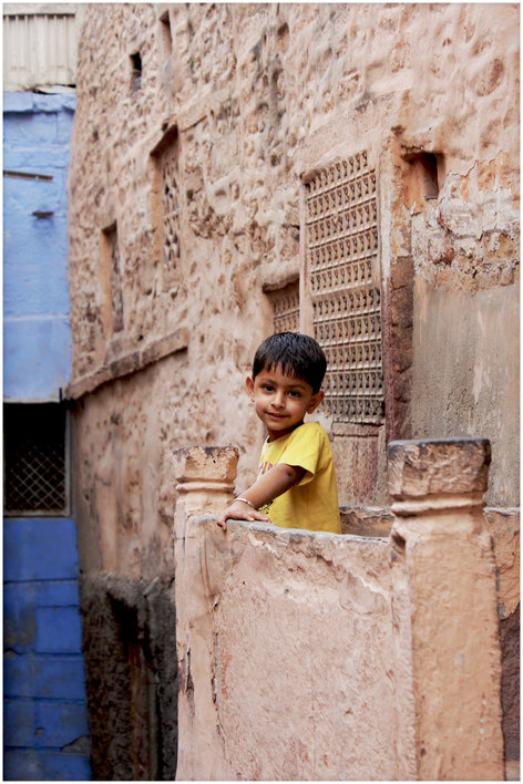
M386 538L223 533L236 451L176 452L178 778L503 778L489 442L389 457Z

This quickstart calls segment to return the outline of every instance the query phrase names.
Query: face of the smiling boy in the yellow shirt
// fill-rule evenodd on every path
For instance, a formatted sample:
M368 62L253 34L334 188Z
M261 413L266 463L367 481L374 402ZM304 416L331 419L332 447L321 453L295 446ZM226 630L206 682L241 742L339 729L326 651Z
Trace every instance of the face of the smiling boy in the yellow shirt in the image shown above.
M248 378L247 391L269 441L295 430L324 400L321 391L315 394L307 381L286 375L280 368L264 368L254 380Z

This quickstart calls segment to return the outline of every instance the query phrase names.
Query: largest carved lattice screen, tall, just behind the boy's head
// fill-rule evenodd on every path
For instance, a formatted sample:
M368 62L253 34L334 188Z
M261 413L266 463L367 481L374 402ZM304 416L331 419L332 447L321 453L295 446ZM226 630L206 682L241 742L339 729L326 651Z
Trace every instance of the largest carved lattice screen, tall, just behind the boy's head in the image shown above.
M383 381L376 172L367 153L306 179L306 244L316 340L335 422L381 424Z

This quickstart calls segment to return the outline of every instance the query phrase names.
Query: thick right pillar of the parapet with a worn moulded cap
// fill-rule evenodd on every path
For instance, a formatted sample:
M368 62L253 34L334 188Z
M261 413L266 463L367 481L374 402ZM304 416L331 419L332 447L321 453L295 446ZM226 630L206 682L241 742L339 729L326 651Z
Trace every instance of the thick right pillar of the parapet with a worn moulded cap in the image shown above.
M417 778L502 780L501 654L492 540L483 517L490 444L389 444L392 558L404 559Z

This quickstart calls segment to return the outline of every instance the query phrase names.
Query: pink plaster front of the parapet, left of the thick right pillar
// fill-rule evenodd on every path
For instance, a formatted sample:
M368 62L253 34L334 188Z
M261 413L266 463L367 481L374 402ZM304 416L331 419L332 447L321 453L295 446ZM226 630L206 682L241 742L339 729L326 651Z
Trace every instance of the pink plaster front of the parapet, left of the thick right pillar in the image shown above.
M178 608L177 777L416 777L409 627L387 541L188 525L198 574L185 619Z

